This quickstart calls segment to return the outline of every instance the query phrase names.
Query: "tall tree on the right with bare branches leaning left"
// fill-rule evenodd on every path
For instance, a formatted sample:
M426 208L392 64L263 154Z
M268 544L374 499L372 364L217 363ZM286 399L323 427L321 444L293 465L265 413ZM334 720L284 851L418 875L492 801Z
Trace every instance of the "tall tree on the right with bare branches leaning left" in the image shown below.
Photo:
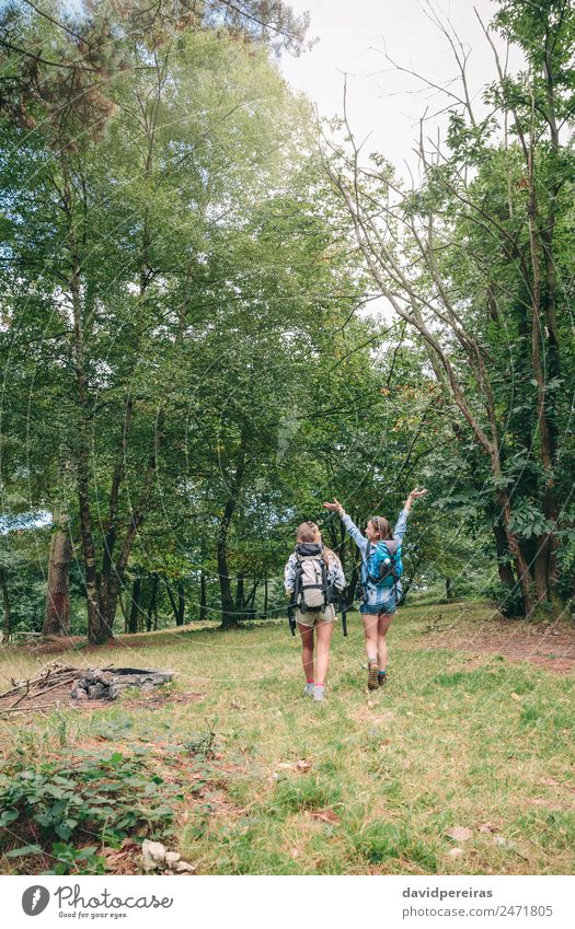
M439 403L457 410L455 436L462 448L472 437L479 481L483 475L491 488L485 514L502 580L510 582L513 564L531 616L539 604L563 606L560 546L571 525L573 382L561 353L571 355L573 337L557 303L567 299L560 253L573 172L559 127L566 130L574 113L574 15L566 3L509 2L494 24L521 45L528 69L506 74L485 30L497 78L485 89L492 109L480 118L462 46L440 24L461 92L448 92L447 147L426 140L422 124L421 186L398 182L380 155L364 163L350 132L348 149L336 147L338 164L326 156L325 167L373 284L426 347Z

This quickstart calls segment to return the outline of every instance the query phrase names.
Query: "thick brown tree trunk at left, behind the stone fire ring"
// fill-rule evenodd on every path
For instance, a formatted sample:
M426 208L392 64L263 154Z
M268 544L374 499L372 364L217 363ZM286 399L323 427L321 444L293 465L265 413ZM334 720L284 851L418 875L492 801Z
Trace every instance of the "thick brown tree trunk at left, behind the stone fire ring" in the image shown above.
M70 561L72 546L68 532L68 515L55 511L48 558L46 609L43 636L70 635Z

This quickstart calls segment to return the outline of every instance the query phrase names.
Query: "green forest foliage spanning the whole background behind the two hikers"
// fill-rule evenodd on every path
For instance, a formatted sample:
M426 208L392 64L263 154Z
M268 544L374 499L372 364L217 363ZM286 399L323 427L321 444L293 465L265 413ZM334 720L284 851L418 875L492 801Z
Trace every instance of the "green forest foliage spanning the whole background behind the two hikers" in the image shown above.
M76 60L78 35L90 39L76 100L55 65L27 70L0 32L4 510L68 513L72 632L87 630L92 562L111 624L116 587L138 630L276 617L304 519L353 585L357 551L323 499L337 496L361 523L376 512L394 522L415 484L429 495L410 520L407 595L448 583L449 595L488 592L521 613L507 521L533 580L542 543L559 542L543 593L565 602L573 12L559 0L501 0L495 27L529 69L483 89L486 117L450 100L445 156L413 190L382 153L360 178L369 222L389 219L383 277L395 290L406 269L465 417L410 318L360 312L373 280L324 172L344 176L349 161L337 146L320 159L311 107L269 55L300 47L304 20L283 3L232 7L195 18L162 8L151 24L140 3L87 18L57 2L71 32L18 5L2 21L32 59L50 48ZM551 278L540 288L550 325L556 304L556 332L540 327L551 464L538 425L521 132L534 146L540 264L552 252L560 283L554 295ZM495 469L470 418L494 437ZM4 624L38 630L49 532L3 523Z

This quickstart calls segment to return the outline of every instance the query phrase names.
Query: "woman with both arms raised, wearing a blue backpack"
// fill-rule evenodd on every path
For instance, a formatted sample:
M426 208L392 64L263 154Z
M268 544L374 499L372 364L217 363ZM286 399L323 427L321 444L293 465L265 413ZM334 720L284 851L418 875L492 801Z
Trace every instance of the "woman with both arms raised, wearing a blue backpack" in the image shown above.
M388 666L386 636L402 593L400 582L400 577L403 573L401 544L407 527L407 516L412 503L417 497L423 497L424 493L427 493L427 490L416 488L411 491L393 532L390 523L383 516L372 516L366 526L365 535L361 535L338 500L334 499L333 503L323 504L329 510L335 510L340 514L344 526L361 553L364 596L359 613L364 620L366 637L367 686L369 690L376 690L386 683Z

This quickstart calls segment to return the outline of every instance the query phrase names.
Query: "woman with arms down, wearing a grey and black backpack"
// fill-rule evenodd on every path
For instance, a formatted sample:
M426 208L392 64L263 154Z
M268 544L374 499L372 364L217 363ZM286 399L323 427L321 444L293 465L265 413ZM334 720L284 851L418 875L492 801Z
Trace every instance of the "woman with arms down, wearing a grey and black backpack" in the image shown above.
M344 590L345 577L342 562L335 551L323 545L315 523L298 526L296 549L288 558L284 579L301 636L301 663L306 675L303 694L320 702L325 697L330 642L336 618L334 591Z

